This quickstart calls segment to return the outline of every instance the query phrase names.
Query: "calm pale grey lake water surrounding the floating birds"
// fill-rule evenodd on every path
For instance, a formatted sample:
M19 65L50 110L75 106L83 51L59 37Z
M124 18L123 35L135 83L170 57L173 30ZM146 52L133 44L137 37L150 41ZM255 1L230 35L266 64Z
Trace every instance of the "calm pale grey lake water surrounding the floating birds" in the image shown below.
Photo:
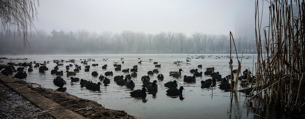
M188 56L189 55L189 56ZM195 57L204 55L204 59L195 59ZM208 57L209 55L213 55ZM79 82L71 82L70 77L66 77L64 73L63 79L67 82L66 90L64 92L70 93L80 98L94 100L105 108L114 109L114 110L124 110L128 114L140 117L140 118L254 118L252 110L248 110L246 104L244 103L247 98L245 94L239 93L238 96L231 96L230 92L219 89L220 82L217 82L217 85L211 89L202 89L200 81L211 78L210 76L203 75L202 77L196 78L195 83L186 83L183 82L183 76L192 76L193 74L189 72L191 69L198 69L199 72L205 72L205 68L214 67L215 72L219 73L225 77L230 74L229 68L229 58L221 57L227 56L230 54L113 54L113 55L22 55L22 56L5 56L7 58L28 58L26 62L36 61L37 63L43 63L43 61L50 61L47 64L49 70L45 71L45 74L39 74L39 68L33 68L33 72L27 73L28 76L25 79L29 82L38 83L45 88L58 89L57 86L53 84L53 79L55 75L51 75L51 70L56 66L56 63L53 63L53 59L59 60L69 60L75 59L75 63L81 66L80 72L76 74L77 78L86 79L87 81L92 80L92 82L99 82L99 76L91 76L92 71L97 71L100 74L103 74L107 71L113 71L113 76L108 76L110 79L110 84L108 86L101 85L99 91L90 91L85 87L81 87ZM239 54L241 56L241 54ZM186 57L193 56L194 59L191 59L190 62L185 61ZM221 58L215 58L219 56ZM232 55L235 56L235 55ZM253 58L254 61L257 59L256 55L253 54L243 54L243 56L251 56L251 58L242 59L242 71L250 69L254 74L255 71L252 71L253 67ZM2 56L3 57L3 56ZM99 66L90 67L89 72L84 71L84 64L81 64L80 59L95 59L95 61L88 61L88 65L98 63ZM107 61L103 59L109 58ZM124 58L120 60L120 58ZM141 58L141 59L138 59ZM148 59L153 59L149 61ZM237 69L238 63L237 59L233 59L233 69ZM142 64L138 62L142 60ZM174 64L174 61L183 61L179 64ZM121 63L124 61L124 64ZM4 63L7 63L6 60ZM22 63L24 60L13 60L15 63ZM131 73L123 73L121 71L115 71L113 67L113 62L120 62L122 65L121 69L132 69L134 65L138 65L138 77L132 78L135 82L134 89L128 89L125 86L119 86L116 82L113 81L113 77L117 75L127 75ZM158 62L161 64L160 68L155 67L153 62ZM73 64L70 67L69 71L73 71L75 68L74 63L63 63L63 66L59 66L59 71L66 71L66 65ZM102 69L102 66L107 64L108 67L106 70ZM197 66L202 64L202 69ZM34 65L33 65L34 66ZM16 66L17 68L17 66ZM173 78L169 76L169 71L178 71L179 69L184 70L180 78ZM254 67L255 68L255 67ZM163 81L158 81L158 91L154 94L148 94L146 98L133 98L130 96L132 90L137 90L142 88L141 77L147 75L149 70L158 69L159 73L151 75L150 81L157 80L158 74L164 75ZM255 69L254 69L255 70ZM27 68L25 69L27 71ZM14 73L15 74L15 73ZM13 75L14 75L13 74ZM169 97L166 95L166 90L168 88L164 87L168 81L176 80L178 87L183 86L182 97ZM232 99L232 100L231 100Z

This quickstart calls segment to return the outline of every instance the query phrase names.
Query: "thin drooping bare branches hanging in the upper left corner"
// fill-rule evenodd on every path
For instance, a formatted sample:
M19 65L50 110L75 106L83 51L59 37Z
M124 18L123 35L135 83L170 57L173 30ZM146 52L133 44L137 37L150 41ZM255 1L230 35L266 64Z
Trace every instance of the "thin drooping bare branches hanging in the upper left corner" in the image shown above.
M39 1L37 1L37 5L39 6ZM4 31L6 35L10 35L11 28L13 31L17 31L14 32L14 36L15 33L18 34L17 37L23 35L23 44L27 48L27 34L30 31L29 33L32 35L31 28L34 27L33 22L37 17L35 0L1 0L0 6L1 32Z

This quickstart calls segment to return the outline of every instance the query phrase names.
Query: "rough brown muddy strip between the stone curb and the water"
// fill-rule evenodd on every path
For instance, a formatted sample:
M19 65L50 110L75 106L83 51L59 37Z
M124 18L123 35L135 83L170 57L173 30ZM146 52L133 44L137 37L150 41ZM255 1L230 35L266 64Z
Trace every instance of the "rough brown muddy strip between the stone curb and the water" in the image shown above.
M18 82L20 85L26 86L27 88L30 88L32 91L37 92L38 94L52 100L53 102L58 103L64 108L74 111L75 113L80 114L81 116L86 118L135 119L134 116L127 114L125 111L106 109L101 104L92 100L78 98L77 96L71 95L69 93L59 92L53 89L42 88L40 85L36 83L30 83L15 78L12 79ZM86 107L92 107L92 109L75 111Z

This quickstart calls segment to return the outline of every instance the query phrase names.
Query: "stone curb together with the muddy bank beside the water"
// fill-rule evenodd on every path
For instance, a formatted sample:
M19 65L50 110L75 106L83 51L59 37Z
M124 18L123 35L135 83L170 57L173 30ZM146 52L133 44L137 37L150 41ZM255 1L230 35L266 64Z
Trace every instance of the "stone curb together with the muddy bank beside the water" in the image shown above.
M43 110L53 107L54 110L50 110L50 114L56 118L135 119L134 116L127 114L125 111L106 109L96 101L78 98L69 93L59 92L49 88L43 88L36 83L7 77L3 74L0 74L0 82ZM74 112L75 110L86 107L92 107L92 109Z

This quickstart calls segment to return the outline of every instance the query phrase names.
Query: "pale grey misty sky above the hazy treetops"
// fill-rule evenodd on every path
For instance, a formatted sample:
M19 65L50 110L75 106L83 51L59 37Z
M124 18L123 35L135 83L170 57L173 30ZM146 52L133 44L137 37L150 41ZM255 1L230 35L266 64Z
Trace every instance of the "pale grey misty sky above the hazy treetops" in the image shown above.
M34 25L47 33L53 29L66 32L85 29L97 33L131 30L190 35L199 31L228 35L229 31L234 32L235 23L247 22L254 27L255 18L252 0L39 0L39 3L38 21Z

